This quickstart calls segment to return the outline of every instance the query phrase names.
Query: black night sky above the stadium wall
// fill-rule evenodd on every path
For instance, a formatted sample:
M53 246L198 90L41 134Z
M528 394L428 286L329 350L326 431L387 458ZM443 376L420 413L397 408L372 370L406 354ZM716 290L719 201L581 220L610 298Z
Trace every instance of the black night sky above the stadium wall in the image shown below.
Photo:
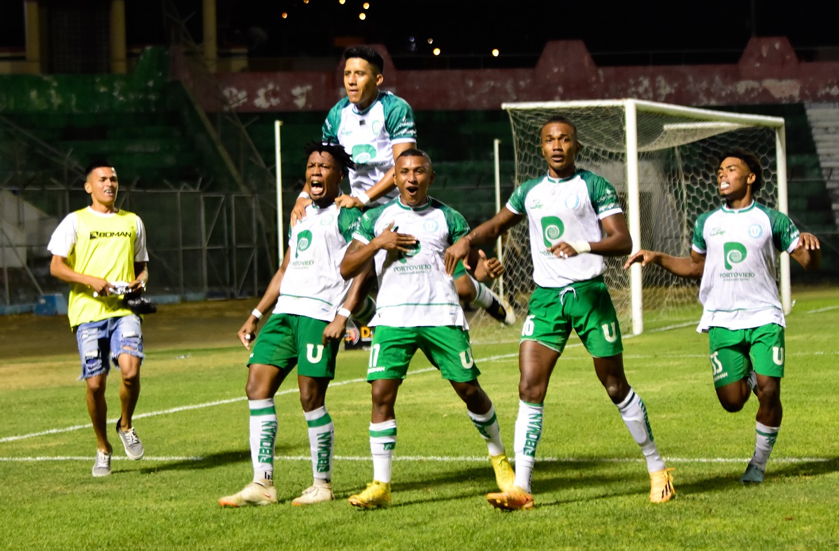
M45 0L57 2L58 0ZM475 0L216 0L219 42L245 44L253 57L337 57L339 40L381 43L394 56L538 56L550 39L582 39L593 54L741 51L750 36L784 35L800 55L839 46L836 8L813 0L706 0L701 3L477 2ZM61 0L107 6L107 0ZM201 41L201 0L172 0ZM128 42L165 40L159 0L126 0ZM367 18L360 20L358 13ZM282 13L288 18L282 18ZM414 38L414 49L410 38ZM428 39L434 44L428 44ZM23 0L0 0L0 48L22 47ZM736 59L736 58L735 58Z

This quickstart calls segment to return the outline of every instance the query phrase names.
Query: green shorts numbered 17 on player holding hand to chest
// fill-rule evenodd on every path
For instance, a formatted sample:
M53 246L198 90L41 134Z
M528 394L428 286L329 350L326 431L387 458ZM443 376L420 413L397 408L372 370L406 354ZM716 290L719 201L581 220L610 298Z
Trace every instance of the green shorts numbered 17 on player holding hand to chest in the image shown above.
M417 348L447 380L466 383L481 374L472 358L469 332L462 327L378 326L373 333L367 381L405 378Z

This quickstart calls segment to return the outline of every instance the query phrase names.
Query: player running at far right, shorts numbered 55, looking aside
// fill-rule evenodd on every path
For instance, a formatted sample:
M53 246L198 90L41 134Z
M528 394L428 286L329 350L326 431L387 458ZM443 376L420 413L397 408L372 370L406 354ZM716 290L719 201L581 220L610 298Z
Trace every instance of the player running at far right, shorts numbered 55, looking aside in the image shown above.
M741 482L762 482L781 426L784 377L784 311L775 283L776 250L805 270L821 265L821 245L799 234L785 214L754 200L761 167L753 152L735 148L717 168L721 207L696 219L690 256L639 250L624 265L657 264L672 274L700 279L704 307L697 332L708 333L711 376L717 399L729 412L758 396L756 442Z

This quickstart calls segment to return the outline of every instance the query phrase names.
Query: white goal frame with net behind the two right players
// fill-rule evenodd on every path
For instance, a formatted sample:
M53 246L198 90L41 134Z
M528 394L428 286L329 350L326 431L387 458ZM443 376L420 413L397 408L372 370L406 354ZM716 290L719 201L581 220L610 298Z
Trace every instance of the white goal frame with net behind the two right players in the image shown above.
M711 111L645 100L584 100L503 103L513 126L515 185L545 173L539 131L554 115L577 127L577 167L606 178L623 203L633 251L662 250L689 255L696 217L721 204L717 193L719 155L729 147L755 152L763 167L761 203L787 214L784 119ZM661 322L675 319L678 306L696 303L695 281L659 266L623 270L624 258L608 258L604 274L624 327L644 331L644 312ZM523 315L534 289L526 224L508 234L504 249L504 297ZM780 257L780 293L790 309L789 255Z

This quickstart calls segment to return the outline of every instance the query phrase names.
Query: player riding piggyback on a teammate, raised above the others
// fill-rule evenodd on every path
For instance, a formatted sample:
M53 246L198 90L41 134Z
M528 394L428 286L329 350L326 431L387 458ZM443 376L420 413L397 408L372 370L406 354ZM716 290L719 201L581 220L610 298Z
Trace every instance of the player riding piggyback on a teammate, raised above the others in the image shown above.
M393 163L401 152L416 147L414 111L408 102L391 92L379 90L383 82L384 59L375 49L357 46L344 53L344 88L347 97L331 108L323 123L324 143L340 143L355 167L349 172L349 195L341 195L341 207L364 209L388 203L399 196L393 180ZM303 218L310 201L309 189L294 204L292 224ZM507 325L515 313L482 281L458 266L455 283L461 301L480 306Z

